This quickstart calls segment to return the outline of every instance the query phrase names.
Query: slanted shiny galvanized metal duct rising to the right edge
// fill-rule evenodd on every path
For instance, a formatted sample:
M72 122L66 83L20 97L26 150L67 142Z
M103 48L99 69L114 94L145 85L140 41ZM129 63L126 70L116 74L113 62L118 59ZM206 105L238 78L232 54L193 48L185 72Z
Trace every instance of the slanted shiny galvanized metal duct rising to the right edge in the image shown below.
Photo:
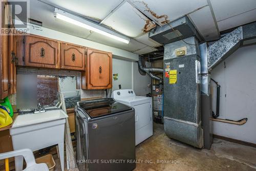
M208 69L213 69L241 45L256 42L256 22L240 26L207 48Z

